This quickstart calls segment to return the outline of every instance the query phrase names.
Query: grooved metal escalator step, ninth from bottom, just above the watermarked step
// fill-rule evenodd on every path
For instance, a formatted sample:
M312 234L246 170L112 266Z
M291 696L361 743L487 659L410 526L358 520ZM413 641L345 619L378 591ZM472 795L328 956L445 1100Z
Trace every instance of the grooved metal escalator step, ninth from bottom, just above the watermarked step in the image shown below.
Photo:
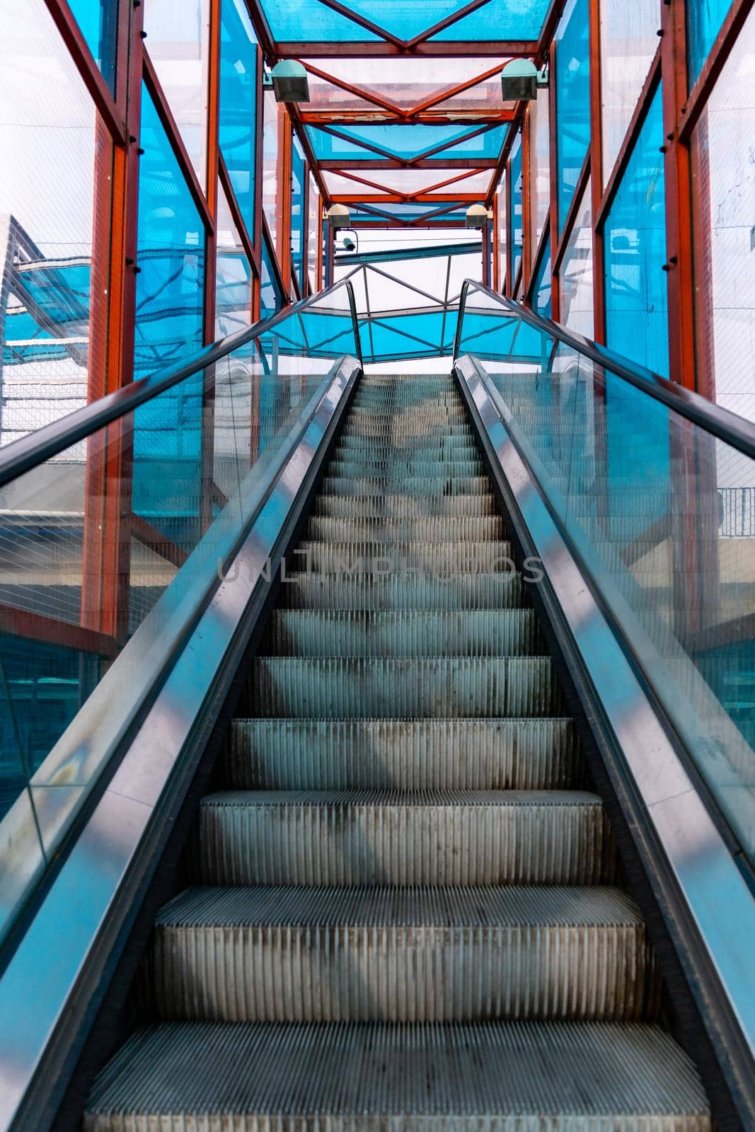
M314 515L306 537L311 542L484 542L500 541L505 534L500 515L417 518Z

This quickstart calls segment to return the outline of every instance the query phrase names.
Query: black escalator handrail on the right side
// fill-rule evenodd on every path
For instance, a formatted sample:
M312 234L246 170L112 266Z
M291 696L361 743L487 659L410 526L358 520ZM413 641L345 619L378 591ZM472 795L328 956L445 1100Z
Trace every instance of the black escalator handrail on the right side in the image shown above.
M616 377L646 393L654 401L660 401L667 409L674 410L680 417L692 421L693 424L705 429L706 432L710 432L719 440L723 440L732 448L737 448L750 460L755 460L755 423L745 420L744 417L739 417L737 413L730 412L728 409L723 409L721 405L717 405L706 397L702 397L698 393L685 389L675 381L669 381L668 378L661 377L660 374L655 374L653 370L646 369L644 366L640 366L637 362L615 353L608 346L600 345L598 342L592 342L575 331L567 329L560 323L555 323L550 318L543 318L542 315L538 315L530 307L524 307L513 299L498 294L496 291L484 286L482 283L477 283L474 280L464 280L462 284L462 293L458 302L458 321L456 324L456 337L454 341L454 361L460 357L466 294L470 286L495 299L507 315L521 318L522 321L527 323L541 334L547 334L549 337L556 338L558 342L563 342L570 349L584 354L595 365L609 369Z

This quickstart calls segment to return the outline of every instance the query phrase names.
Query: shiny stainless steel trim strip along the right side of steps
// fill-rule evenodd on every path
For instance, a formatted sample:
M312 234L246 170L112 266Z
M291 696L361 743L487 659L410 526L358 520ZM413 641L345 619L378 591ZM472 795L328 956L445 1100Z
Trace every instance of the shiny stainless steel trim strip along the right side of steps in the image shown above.
M621 752L625 771L641 799L650 829L695 925L705 962L696 971L714 972L715 989L737 1027L737 1043L746 1050L750 1080L743 1082L733 1043L722 1043L711 1018L710 983L690 980L701 1014L710 1023L711 1040L730 1080L747 1106L746 1126L755 1126L755 990L753 940L755 900L690 781L684 763L645 694L611 626L598 604L577 559L565 542L501 412L473 360L461 359L456 372L469 389L482 427L495 449L504 478L584 664L603 718ZM504 406L505 410L505 406ZM650 877L651 885L657 877ZM744 1100L743 1100L744 1097Z

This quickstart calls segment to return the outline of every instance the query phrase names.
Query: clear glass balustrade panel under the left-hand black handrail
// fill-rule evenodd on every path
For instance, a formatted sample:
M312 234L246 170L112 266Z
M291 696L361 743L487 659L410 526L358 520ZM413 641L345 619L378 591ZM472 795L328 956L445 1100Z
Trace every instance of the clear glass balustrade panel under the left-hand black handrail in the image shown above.
M0 873L0 935L102 771L102 753L59 745L69 723L113 660L123 687L140 685L179 610L204 600L197 577L222 576L303 409L355 352L340 288L0 489L0 843L24 866Z

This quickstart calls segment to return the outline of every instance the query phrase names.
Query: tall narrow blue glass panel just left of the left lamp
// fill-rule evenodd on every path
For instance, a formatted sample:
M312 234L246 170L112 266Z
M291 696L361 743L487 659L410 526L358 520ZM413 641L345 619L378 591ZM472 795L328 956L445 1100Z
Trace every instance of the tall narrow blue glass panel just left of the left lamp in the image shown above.
M257 40L242 0L221 8L220 144L239 208L254 233Z

